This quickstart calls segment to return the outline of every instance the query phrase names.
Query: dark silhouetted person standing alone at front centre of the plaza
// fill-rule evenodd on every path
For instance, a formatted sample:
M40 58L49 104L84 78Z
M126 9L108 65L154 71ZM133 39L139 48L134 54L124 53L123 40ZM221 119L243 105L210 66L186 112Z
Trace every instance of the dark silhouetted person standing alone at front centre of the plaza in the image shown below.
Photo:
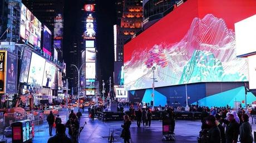
M124 115L124 125L121 125L122 132L121 137L124 139L124 143L130 143L131 132L130 132L131 120L128 115Z

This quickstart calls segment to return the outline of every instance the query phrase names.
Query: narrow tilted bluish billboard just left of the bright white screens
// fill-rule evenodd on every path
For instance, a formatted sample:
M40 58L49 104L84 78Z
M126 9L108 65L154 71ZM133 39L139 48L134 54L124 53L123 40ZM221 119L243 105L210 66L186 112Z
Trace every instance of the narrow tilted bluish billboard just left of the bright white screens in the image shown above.
M19 82L21 83L27 83L31 54L32 53L26 49L23 52L23 58L21 63L21 75L19 76Z

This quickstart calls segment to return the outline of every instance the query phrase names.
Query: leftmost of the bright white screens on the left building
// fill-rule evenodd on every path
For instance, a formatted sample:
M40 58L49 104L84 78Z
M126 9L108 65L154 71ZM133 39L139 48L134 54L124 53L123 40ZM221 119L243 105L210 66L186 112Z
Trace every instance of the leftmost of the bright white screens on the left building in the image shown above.
M42 86L43 72L45 71L45 59L40 55L32 52L28 83L38 84Z

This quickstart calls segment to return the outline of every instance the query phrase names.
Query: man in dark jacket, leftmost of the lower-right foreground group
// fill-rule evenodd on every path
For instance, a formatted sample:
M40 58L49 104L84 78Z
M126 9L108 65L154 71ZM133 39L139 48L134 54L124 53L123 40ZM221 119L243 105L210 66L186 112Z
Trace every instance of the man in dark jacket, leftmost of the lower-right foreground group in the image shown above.
M208 143L221 143L220 130L215 121L216 118L213 115L209 115L205 121L209 126Z

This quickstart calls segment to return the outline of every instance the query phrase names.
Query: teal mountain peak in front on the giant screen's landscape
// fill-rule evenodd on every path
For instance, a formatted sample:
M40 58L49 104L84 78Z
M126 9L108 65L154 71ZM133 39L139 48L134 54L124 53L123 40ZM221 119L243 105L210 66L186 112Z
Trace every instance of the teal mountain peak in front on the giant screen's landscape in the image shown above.
M247 77L239 71L229 73L214 54L208 51L195 50L189 62L184 66L179 84L196 83L198 81L247 81Z

